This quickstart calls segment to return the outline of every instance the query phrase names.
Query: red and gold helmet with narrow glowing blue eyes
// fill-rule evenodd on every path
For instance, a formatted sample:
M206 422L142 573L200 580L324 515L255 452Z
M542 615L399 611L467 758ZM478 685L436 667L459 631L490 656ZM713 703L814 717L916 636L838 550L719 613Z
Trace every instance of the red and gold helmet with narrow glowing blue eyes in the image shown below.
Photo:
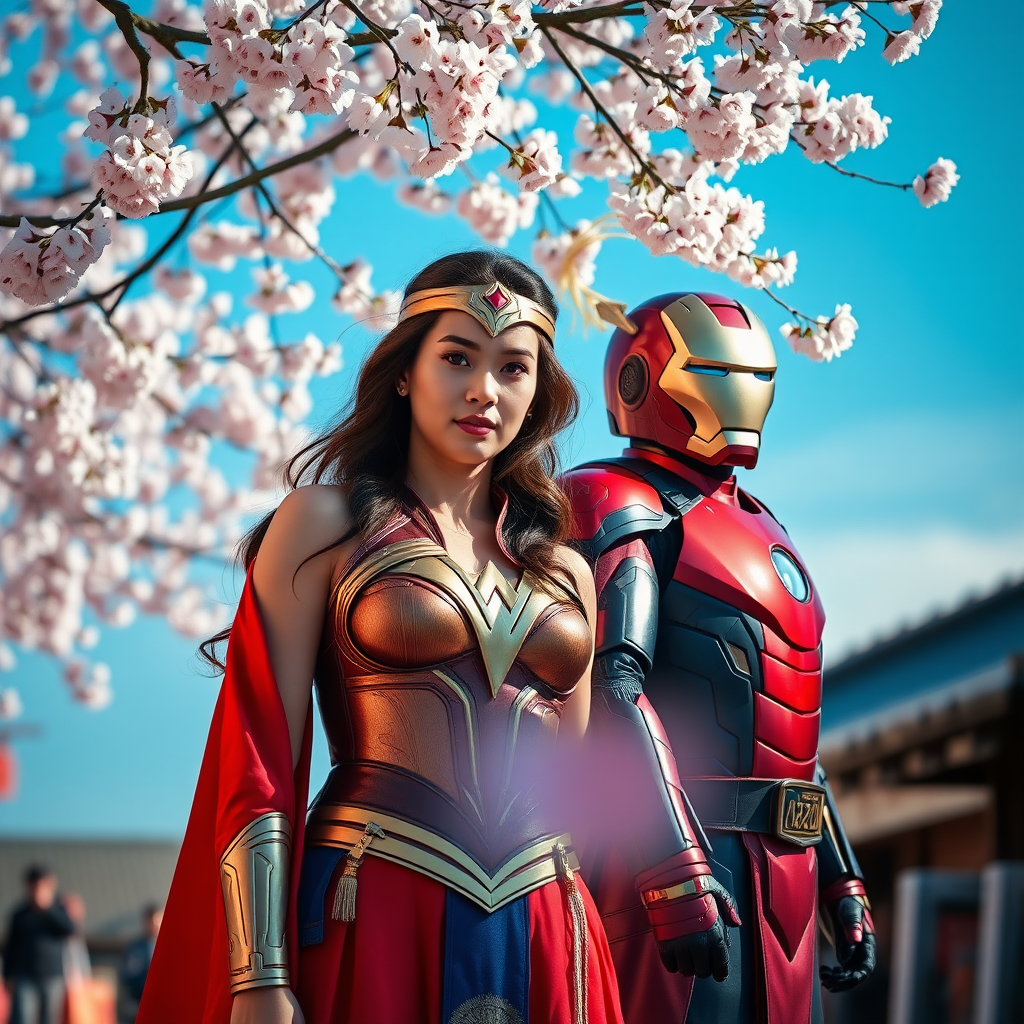
M659 295L629 314L604 362L613 433L712 466L752 468L775 395L764 324L721 295Z

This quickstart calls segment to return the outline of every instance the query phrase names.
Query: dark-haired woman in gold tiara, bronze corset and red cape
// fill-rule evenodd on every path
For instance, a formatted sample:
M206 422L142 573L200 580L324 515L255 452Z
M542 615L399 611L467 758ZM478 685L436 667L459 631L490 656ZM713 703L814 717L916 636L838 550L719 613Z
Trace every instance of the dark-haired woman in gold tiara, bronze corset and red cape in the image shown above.
M621 1021L549 799L596 617L556 314L511 257L437 260L291 463L312 483L248 539L144 1024ZM314 677L334 768L303 827Z

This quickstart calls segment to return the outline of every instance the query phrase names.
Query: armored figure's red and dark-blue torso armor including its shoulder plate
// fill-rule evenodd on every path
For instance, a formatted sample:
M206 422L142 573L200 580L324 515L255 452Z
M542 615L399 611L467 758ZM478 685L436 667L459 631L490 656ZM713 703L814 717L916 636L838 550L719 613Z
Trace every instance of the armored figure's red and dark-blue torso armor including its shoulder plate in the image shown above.
M680 774L810 781L824 612L785 530L734 478L709 480L636 449L575 470L571 488L581 537L646 536L652 552L666 542L644 691ZM680 516L681 548L671 524Z

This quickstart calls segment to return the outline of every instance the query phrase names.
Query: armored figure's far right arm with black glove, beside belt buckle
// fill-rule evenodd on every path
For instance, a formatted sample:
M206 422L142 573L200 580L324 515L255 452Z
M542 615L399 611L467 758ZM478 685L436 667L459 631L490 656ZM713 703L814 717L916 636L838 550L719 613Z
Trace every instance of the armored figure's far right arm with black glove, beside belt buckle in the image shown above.
M841 992L859 984L874 969L874 925L860 864L820 765L814 781L825 791L821 842L817 846L821 924L840 965L822 967L821 983L829 991Z

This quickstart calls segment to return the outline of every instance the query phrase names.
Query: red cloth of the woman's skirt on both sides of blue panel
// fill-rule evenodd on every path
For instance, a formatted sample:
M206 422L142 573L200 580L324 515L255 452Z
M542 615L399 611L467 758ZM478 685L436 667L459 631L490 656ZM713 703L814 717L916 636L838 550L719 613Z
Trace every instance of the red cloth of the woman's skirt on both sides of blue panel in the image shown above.
M328 886L324 941L299 950L295 991L306 1024L442 1024L445 888L368 856L359 865L356 920L334 921ZM590 1024L623 1024L611 953L594 901L587 909ZM565 889L549 882L529 901L529 1024L572 1024L572 918Z

